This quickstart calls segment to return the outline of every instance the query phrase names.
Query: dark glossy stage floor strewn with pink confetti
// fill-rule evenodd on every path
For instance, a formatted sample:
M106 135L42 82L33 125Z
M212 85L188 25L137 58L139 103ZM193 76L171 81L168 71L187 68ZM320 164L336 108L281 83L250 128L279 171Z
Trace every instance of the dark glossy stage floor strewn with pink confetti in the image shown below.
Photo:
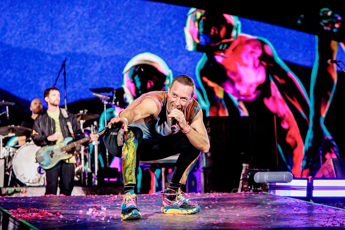
M121 220L121 195L1 197L0 206L7 211L40 209L36 215L43 217L14 211L11 216L38 229L345 229L344 209L293 198L267 193L190 193L186 197L199 203L199 213L163 214L161 195L138 195L142 219L137 221Z

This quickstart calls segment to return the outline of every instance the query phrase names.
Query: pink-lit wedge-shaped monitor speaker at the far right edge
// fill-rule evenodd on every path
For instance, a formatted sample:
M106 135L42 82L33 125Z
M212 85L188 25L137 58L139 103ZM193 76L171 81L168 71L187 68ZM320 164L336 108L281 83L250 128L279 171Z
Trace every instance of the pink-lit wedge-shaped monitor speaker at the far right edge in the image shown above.
M345 158L330 158L315 174L316 178L345 178Z

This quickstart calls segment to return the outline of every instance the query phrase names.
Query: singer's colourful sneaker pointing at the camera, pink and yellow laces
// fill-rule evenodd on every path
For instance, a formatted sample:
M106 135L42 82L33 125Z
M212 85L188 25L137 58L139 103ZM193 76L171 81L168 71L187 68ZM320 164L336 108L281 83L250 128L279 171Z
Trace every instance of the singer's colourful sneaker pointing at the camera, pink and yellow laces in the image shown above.
M122 195L121 218L123 220L141 219L141 213L137 204L137 196L134 191Z

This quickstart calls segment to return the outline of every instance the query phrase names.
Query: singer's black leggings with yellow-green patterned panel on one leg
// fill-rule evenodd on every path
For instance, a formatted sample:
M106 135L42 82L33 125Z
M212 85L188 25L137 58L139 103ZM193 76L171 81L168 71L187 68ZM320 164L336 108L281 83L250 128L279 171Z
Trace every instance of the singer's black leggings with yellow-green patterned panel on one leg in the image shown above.
M172 183L185 184L187 176L193 169L200 150L196 149L186 137L186 134L177 132L163 137L155 142L145 142L142 131L137 127L128 127L124 133L123 146L118 146L117 134L119 128L112 127L103 135L103 140L108 151L115 157L121 157L122 177L124 185L135 184L138 174L139 160L160 160L180 153L176 161Z

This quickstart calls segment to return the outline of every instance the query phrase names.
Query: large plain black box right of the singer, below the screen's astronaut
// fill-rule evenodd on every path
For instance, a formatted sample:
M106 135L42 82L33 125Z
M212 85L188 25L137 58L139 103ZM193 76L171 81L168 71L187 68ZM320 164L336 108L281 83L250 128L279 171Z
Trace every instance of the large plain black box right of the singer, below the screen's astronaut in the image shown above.
M204 121L210 140L209 152L201 155L205 192L238 188L243 163L250 168L276 169L274 116L207 117Z

